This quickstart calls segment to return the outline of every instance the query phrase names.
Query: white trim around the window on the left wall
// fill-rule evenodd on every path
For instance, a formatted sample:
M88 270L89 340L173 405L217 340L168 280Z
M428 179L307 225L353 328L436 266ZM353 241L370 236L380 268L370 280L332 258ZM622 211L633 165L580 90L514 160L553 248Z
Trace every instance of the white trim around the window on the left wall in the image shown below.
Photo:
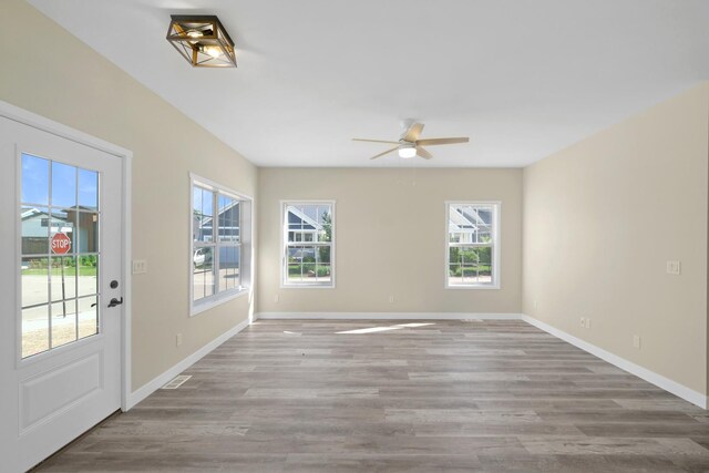
M244 279L242 279L242 286L239 286L238 288L235 289L230 289L224 292L217 292L213 296L206 297L204 299L201 299L202 301L195 301L194 300L194 276L193 276L193 258L194 258L194 216L193 216L193 212L194 212L194 186L197 185L199 187L204 187L206 189L209 189L212 192L217 192L224 195L227 195L232 198L236 198L238 200L247 200L250 205L250 212L249 212L249 222L248 222L248 232L244 232L244 215L240 212L239 213L239 236L240 236L240 241L242 241L242 250L239 251L239 273L243 274L243 267L244 267L244 247L246 245L250 246L250 250L249 250L249 261L248 264L250 265L249 268L249 275L250 275L250 280L247 281L247 284L244 284ZM207 311L209 309L213 309L217 306L220 306L225 302L228 302L229 300L243 297L247 294L250 292L250 287L253 286L253 280L254 280L254 265L253 265L253 257L250 255L254 254L254 197L244 194L244 193L239 193L236 191L230 189L227 186L224 186L222 184L215 183L212 179L207 179L206 177L202 177L197 174L194 173L189 173L189 213L188 213L188 218L189 218L189 251L187 254L187 268L189 268L188 270L188 285L189 285L189 317L194 317L198 313L202 313L204 311ZM215 226L216 228L216 226ZM213 234L214 234L214 229L213 229ZM214 235L213 235L214 237ZM218 284L218 276L215 274L215 285Z

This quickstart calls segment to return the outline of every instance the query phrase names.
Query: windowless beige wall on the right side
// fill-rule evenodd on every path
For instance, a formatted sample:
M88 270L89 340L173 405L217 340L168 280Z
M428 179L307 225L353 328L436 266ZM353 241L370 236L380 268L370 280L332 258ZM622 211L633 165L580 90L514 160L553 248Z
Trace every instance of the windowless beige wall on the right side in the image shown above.
M702 393L708 115L703 84L524 169L524 312Z

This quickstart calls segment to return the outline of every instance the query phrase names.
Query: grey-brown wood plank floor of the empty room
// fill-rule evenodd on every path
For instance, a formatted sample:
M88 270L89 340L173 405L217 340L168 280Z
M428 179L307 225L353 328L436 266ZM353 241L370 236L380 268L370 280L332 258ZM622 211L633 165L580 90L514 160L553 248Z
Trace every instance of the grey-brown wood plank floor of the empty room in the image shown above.
M521 321L259 320L184 374L38 470L709 471L707 411Z

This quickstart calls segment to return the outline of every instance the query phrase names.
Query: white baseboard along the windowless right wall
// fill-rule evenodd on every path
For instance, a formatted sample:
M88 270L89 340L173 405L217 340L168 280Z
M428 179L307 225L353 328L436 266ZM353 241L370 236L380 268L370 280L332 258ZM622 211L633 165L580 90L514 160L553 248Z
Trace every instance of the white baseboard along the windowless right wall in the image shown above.
M624 371L629 372L630 374L635 374L636 377L641 378L645 381L653 383L660 389L664 389L665 391L671 392L672 394L686 401L689 401L692 404L699 405L702 409L707 409L708 397L702 394L701 392L697 392L693 389L687 388L686 385L680 384L677 381L665 378L664 376L658 374L655 371L643 368L639 364L628 361L625 358L618 357L617 354L606 351L603 348L596 347L595 345L574 337L573 335L566 333L563 330L556 329L548 323L544 323L543 321L537 320L533 317L522 315L521 319L558 339L564 340L567 343L573 345L574 347L580 348L582 350L587 351L590 354L598 357L602 360L607 361Z

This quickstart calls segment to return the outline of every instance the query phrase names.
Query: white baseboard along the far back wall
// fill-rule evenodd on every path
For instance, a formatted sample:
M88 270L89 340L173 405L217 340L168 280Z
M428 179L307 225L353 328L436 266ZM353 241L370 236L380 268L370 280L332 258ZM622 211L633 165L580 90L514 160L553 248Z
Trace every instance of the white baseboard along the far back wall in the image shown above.
M479 312L257 312L254 319L329 320L521 320L522 313Z

